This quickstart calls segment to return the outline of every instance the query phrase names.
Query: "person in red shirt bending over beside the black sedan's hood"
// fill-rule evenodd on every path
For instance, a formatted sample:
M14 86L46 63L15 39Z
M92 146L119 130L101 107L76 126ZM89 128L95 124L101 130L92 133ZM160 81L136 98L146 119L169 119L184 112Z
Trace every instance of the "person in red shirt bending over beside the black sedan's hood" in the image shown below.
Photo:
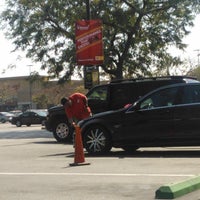
M65 113L71 124L77 123L82 119L86 119L92 115L88 106L87 97L81 93L74 93L69 97L61 99L61 104L65 108Z

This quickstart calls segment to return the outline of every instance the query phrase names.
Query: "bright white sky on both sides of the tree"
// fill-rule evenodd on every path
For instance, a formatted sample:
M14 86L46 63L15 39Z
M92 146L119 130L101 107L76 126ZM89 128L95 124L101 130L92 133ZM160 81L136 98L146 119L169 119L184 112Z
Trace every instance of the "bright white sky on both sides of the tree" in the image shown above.
M3 7L3 0L0 0L0 10ZM191 28L191 33L184 39L184 42L188 45L185 52L180 52L175 48L171 48L170 52L173 55L179 55L182 58L190 59L193 63L198 64L198 54L200 55L200 15L198 15L194 21L195 26ZM47 75L45 71L40 70L39 64L35 64L31 59L25 57L25 53L21 51L12 52L14 46L10 40L5 38L3 31L0 30L0 78L4 77L16 77L16 76L28 76L30 72L37 71L40 75ZM200 57L199 57L200 59ZM15 65L15 68L9 68L8 66Z

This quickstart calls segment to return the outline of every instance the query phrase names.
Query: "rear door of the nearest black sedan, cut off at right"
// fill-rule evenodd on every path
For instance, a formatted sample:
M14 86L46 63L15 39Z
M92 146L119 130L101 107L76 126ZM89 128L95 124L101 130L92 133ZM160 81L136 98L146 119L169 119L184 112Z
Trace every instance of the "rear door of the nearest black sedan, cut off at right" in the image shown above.
M182 100L174 113L174 136L177 143L200 144L200 85L182 87Z

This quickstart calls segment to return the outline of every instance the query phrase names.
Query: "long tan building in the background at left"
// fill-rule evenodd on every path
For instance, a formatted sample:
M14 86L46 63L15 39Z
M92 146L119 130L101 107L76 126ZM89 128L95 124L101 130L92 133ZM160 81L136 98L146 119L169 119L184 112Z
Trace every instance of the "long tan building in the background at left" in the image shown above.
M85 93L83 85L79 80L58 85L57 81L49 81L47 76L0 78L0 111L45 109L75 91ZM41 99L45 102L41 103Z

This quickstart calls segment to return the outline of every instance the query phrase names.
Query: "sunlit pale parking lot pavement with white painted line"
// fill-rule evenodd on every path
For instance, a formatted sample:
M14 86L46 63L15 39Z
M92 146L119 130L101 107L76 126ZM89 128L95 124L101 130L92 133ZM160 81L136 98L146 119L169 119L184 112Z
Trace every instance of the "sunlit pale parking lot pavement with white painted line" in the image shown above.
M58 144L41 126L0 124L0 199L152 200L164 184L200 174L200 147L112 149L85 154L90 165L71 167L72 144ZM179 197L199 200L200 191Z

